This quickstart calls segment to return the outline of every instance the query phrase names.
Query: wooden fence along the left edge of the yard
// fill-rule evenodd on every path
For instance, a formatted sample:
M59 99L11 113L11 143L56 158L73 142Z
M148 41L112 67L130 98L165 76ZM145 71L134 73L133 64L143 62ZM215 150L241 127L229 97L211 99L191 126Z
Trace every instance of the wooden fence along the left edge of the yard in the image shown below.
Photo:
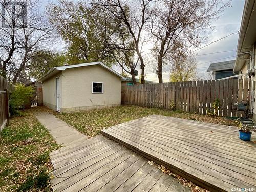
M5 78L0 76L0 132L5 127L9 120L9 91L12 91L14 86L6 82Z

